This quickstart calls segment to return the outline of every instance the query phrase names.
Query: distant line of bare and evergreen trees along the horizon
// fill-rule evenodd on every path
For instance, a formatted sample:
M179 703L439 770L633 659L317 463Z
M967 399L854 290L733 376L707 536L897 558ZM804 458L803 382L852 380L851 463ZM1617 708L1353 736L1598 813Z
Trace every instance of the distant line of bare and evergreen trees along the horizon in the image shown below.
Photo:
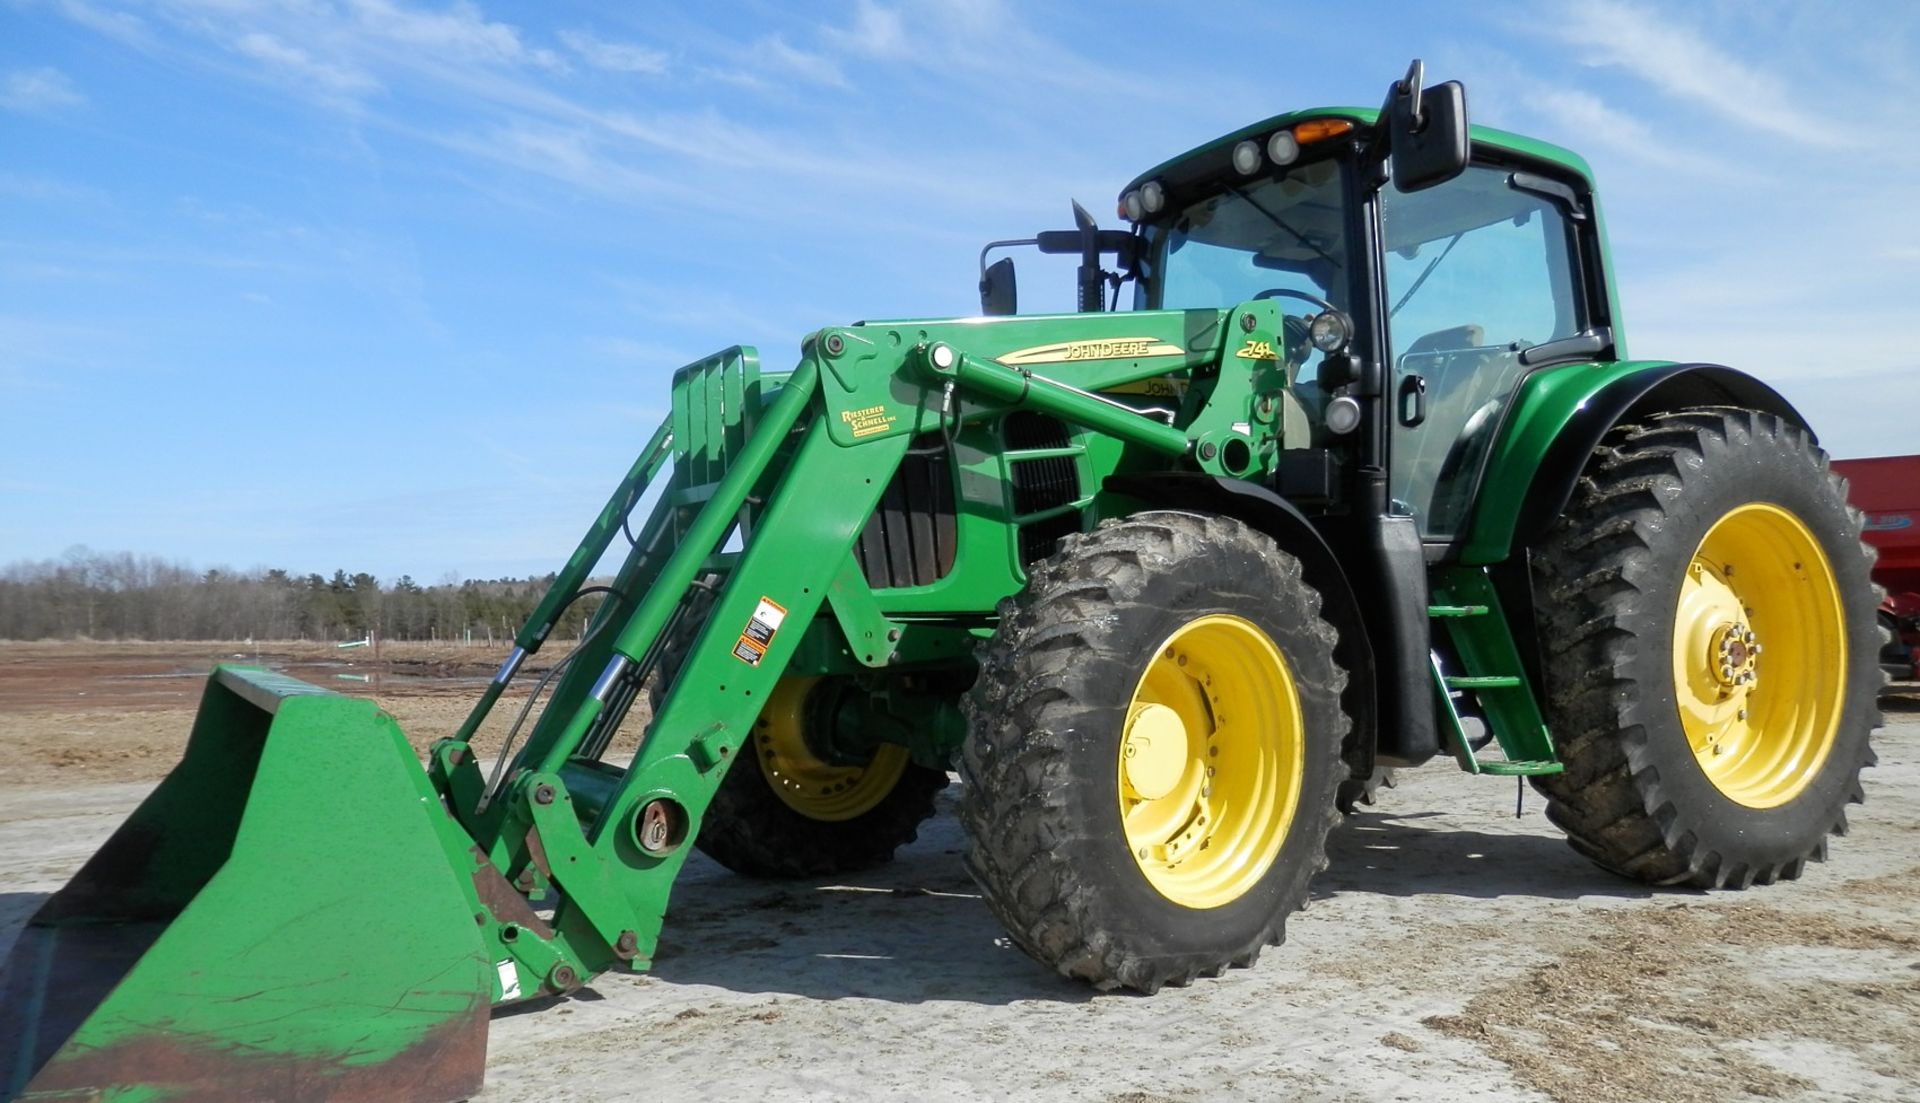
M493 578L420 586L357 573L196 571L184 563L73 548L0 567L4 640L476 640L513 636L553 582ZM576 601L555 636L578 636L599 596Z

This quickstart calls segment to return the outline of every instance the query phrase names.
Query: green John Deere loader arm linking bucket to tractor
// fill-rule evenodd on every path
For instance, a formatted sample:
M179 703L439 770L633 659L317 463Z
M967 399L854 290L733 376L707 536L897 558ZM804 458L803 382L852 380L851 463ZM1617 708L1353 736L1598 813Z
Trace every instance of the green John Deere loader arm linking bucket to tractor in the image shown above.
M645 968L685 844L755 719L808 632L885 663L931 625L891 621L851 569L860 530L916 442L952 444L1010 409L1033 409L1215 475L1273 463L1284 386L1281 311L879 323L812 334L799 365L764 377L733 348L674 375L674 409L516 638L516 653L430 772L453 815L516 890L555 892L551 932L495 940L520 997L563 992L605 968ZM1062 336L1069 340L1060 340ZM1252 350L1252 352L1244 352ZM1240 371L1221 371L1233 359ZM1250 371L1248 371L1250 369ZM1177 377L1179 409L1098 394ZM1261 402L1261 398L1269 402ZM672 465L664 459L670 455ZM657 494L586 642L499 780L467 746L538 650L591 565L620 538L624 509ZM630 528L630 527L628 527ZM733 546L737 544L737 550ZM975 609L1021 584L1004 563ZM893 625L883 655L872 623ZM862 626L864 625L864 626ZM860 628L856 632L856 628ZM657 711L626 765L614 732L649 678ZM501 995L505 999L505 993Z

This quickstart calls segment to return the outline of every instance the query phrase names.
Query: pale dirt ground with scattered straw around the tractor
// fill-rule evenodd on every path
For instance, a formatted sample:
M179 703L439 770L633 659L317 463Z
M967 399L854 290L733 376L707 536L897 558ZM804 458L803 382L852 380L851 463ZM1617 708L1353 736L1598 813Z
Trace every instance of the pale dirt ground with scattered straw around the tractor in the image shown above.
M0 953L173 765L207 663L234 655L253 659L0 644ZM261 653L374 696L422 746L497 659ZM495 1017L480 1099L1920 1101L1920 686L1884 707L1868 803L1799 882L1622 882L1532 794L1515 819L1511 782L1436 765L1334 834L1286 945L1154 997L1010 947L947 815L839 882L695 855L655 970Z

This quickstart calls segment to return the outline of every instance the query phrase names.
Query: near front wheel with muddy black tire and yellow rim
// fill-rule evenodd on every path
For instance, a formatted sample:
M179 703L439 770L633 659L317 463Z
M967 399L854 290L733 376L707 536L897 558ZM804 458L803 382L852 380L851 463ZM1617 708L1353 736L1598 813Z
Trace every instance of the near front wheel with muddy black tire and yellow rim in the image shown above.
M1096 988L1252 965L1327 867L1346 671L1300 561L1221 517L1062 542L968 698L968 869L1012 940Z

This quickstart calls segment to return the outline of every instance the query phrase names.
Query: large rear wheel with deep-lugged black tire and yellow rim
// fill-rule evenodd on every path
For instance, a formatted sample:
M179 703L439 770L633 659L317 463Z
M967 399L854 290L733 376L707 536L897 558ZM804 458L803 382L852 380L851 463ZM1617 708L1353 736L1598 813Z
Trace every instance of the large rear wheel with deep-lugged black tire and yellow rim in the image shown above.
M1567 765L1534 786L1574 849L1697 888L1824 861L1874 763L1870 561L1803 429L1711 407L1613 430L1534 550Z

